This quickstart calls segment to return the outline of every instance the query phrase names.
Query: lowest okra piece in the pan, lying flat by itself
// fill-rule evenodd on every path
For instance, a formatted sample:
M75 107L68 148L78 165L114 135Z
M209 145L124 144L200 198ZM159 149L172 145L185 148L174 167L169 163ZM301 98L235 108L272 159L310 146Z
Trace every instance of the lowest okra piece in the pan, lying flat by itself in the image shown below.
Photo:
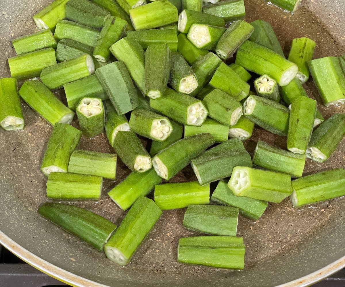
M177 261L226 269L244 269L242 237L194 236L180 238Z

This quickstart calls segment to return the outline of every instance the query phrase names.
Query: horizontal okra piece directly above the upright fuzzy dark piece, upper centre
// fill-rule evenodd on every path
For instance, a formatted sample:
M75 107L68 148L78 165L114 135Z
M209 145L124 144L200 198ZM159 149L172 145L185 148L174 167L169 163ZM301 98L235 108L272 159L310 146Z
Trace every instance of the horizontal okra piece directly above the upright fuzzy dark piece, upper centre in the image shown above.
M128 31L127 38L137 41L144 50L152 44L167 44L171 51L177 51L177 34L173 29Z

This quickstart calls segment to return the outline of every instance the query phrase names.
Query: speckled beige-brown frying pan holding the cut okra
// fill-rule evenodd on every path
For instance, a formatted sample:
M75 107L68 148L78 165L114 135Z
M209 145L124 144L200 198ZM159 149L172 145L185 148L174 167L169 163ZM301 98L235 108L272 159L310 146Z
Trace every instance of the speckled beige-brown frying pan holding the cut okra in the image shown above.
M14 55L11 40L35 31L31 16L50 0L1 0L0 76L8 76L8 57ZM264 19L272 24L288 52L297 37L317 42L315 58L345 53L345 2L304 0L292 16L263 0L245 1L247 21ZM314 84L306 90L319 102ZM63 100L63 91L57 91ZM1 103L0 103L1 104ZM319 109L327 118L344 107ZM23 104L24 131L0 131L0 242L41 271L73 286L309 286L345 266L345 198L311 207L292 208L288 199L269 204L257 222L239 218L238 236L246 244L243 271L177 263L178 238L195 233L182 226L184 209L164 212L131 263L120 267L79 239L63 232L37 214L45 197L46 178L40 172L42 154L51 126ZM257 140L283 147L285 139L256 130L246 143L253 151ZM106 137L82 138L79 148L112 152ZM307 161L305 174L345 166L345 142L324 164ZM117 181L129 171L118 162ZM196 180L187 167L173 181ZM113 222L125 216L106 195L114 182L106 182L99 202L75 202Z

